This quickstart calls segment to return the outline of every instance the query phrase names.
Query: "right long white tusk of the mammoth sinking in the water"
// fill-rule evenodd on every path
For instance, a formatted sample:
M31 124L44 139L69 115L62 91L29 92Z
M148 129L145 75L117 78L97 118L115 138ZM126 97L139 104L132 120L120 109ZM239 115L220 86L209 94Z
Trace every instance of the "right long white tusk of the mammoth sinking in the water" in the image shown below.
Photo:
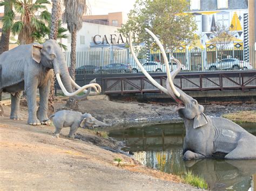
M165 53L165 49L163 47L163 45L161 44L160 40L157 38L156 35L154 35L154 33L152 33L149 29L145 28L145 30L147 31L147 33L149 33L151 35L151 37L153 37L154 40L156 40L156 43L157 45L159 46L160 48L160 51L161 53L163 54L163 57L164 57L164 63L165 63L165 67L166 67L166 74L167 74L167 79L169 79L169 84L171 86L171 89L173 91L173 93L179 97L180 96L180 93L177 91L177 89L175 88L173 82L172 82L172 77L171 77L171 74L170 74L170 67L169 67L169 63L168 63L168 59L167 59L167 56L166 56L166 53Z

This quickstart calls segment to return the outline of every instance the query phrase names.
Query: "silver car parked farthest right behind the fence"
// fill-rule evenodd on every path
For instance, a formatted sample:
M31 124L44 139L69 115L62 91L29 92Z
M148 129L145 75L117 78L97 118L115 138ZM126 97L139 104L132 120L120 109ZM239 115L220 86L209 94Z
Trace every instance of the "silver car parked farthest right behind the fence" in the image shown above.
M237 58L227 58L206 65L205 69L252 69L251 63L239 60Z

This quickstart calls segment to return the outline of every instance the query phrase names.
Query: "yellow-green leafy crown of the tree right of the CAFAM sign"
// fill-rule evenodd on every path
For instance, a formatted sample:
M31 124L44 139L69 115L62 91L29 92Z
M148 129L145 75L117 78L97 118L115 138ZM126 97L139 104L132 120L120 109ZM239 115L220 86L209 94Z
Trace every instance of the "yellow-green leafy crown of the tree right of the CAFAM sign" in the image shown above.
M158 36L165 48L177 47L198 39L193 33L196 22L188 11L186 0L137 0L128 21L118 30L127 35L131 31L138 43L151 39L145 27ZM152 40L150 40L152 41Z

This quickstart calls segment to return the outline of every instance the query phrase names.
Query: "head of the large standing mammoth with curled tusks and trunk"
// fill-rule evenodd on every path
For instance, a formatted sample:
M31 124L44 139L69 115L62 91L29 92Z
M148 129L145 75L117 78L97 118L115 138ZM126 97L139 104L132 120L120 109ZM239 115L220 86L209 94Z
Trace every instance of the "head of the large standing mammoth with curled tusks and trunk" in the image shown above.
M100 94L101 87L99 84L95 83L95 81L91 81L90 84L80 87L75 81L72 80L69 75L65 56L57 41L47 40L42 45L32 44L32 59L35 60L39 65L54 69L59 86L66 96L81 99L87 97L88 95ZM77 88L75 92L73 92L72 86ZM92 92L91 88L95 89L95 91ZM80 92L85 94L78 96L77 94Z

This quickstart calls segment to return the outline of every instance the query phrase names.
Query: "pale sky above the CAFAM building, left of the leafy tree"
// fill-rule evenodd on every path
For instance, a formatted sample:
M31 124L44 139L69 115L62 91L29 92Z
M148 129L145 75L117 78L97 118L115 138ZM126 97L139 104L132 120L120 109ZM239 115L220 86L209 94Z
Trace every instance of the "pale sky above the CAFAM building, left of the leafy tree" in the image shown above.
M107 15L109 12L125 12L133 8L136 0L87 0L90 8L89 15ZM0 6L0 12L4 12Z

